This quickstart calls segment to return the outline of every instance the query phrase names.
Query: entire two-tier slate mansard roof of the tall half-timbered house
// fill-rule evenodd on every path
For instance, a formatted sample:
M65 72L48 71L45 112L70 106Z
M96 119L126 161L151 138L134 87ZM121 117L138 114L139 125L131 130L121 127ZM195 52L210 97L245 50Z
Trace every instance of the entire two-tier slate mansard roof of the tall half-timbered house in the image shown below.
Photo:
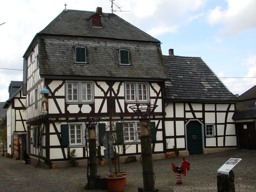
M39 44L41 77L168 79L159 40L115 14L102 13L101 27L92 27L94 14L96 12L64 10L39 32L34 41ZM77 43L86 46L86 64L74 62L72 48ZM34 44L31 43L24 56L28 57ZM117 53L121 48L130 50L131 65L119 65Z

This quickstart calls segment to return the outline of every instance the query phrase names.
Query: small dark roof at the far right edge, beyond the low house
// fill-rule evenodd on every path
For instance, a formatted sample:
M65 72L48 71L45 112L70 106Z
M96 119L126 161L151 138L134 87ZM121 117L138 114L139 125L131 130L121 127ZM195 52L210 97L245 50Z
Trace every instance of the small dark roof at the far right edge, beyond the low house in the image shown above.
M240 104L245 105L249 108L256 107L256 86L254 85L251 89L238 97Z

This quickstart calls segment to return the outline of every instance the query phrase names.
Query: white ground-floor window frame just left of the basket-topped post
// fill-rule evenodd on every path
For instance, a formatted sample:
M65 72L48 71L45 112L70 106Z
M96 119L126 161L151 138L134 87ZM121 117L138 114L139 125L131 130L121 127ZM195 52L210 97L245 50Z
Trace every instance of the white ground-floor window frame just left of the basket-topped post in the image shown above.
M129 126L126 126L128 124ZM129 130L131 128L130 125L133 125L133 132ZM134 136L134 139L132 137ZM139 121L135 122L123 122L123 141L124 143L138 143L141 138L141 131L139 127Z

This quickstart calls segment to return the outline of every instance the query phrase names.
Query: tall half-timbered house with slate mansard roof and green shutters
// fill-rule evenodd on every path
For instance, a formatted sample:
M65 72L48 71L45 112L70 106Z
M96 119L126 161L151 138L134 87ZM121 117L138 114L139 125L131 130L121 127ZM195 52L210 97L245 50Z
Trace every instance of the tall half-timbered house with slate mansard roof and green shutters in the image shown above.
M68 166L71 149L78 160L88 158L86 127L92 119L102 152L102 135L114 122L123 134L122 156L139 154L139 119L130 108L137 103L158 106L151 118L152 130L158 130L153 151L163 153L168 75L159 40L100 7L64 10L36 34L23 57L32 163L42 155Z

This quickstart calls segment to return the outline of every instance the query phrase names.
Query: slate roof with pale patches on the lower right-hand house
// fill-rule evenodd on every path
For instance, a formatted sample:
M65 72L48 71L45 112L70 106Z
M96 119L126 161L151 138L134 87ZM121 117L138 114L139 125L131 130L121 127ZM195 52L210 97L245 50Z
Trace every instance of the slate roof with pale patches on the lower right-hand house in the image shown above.
M170 77L166 101L237 102L201 57L163 56Z

